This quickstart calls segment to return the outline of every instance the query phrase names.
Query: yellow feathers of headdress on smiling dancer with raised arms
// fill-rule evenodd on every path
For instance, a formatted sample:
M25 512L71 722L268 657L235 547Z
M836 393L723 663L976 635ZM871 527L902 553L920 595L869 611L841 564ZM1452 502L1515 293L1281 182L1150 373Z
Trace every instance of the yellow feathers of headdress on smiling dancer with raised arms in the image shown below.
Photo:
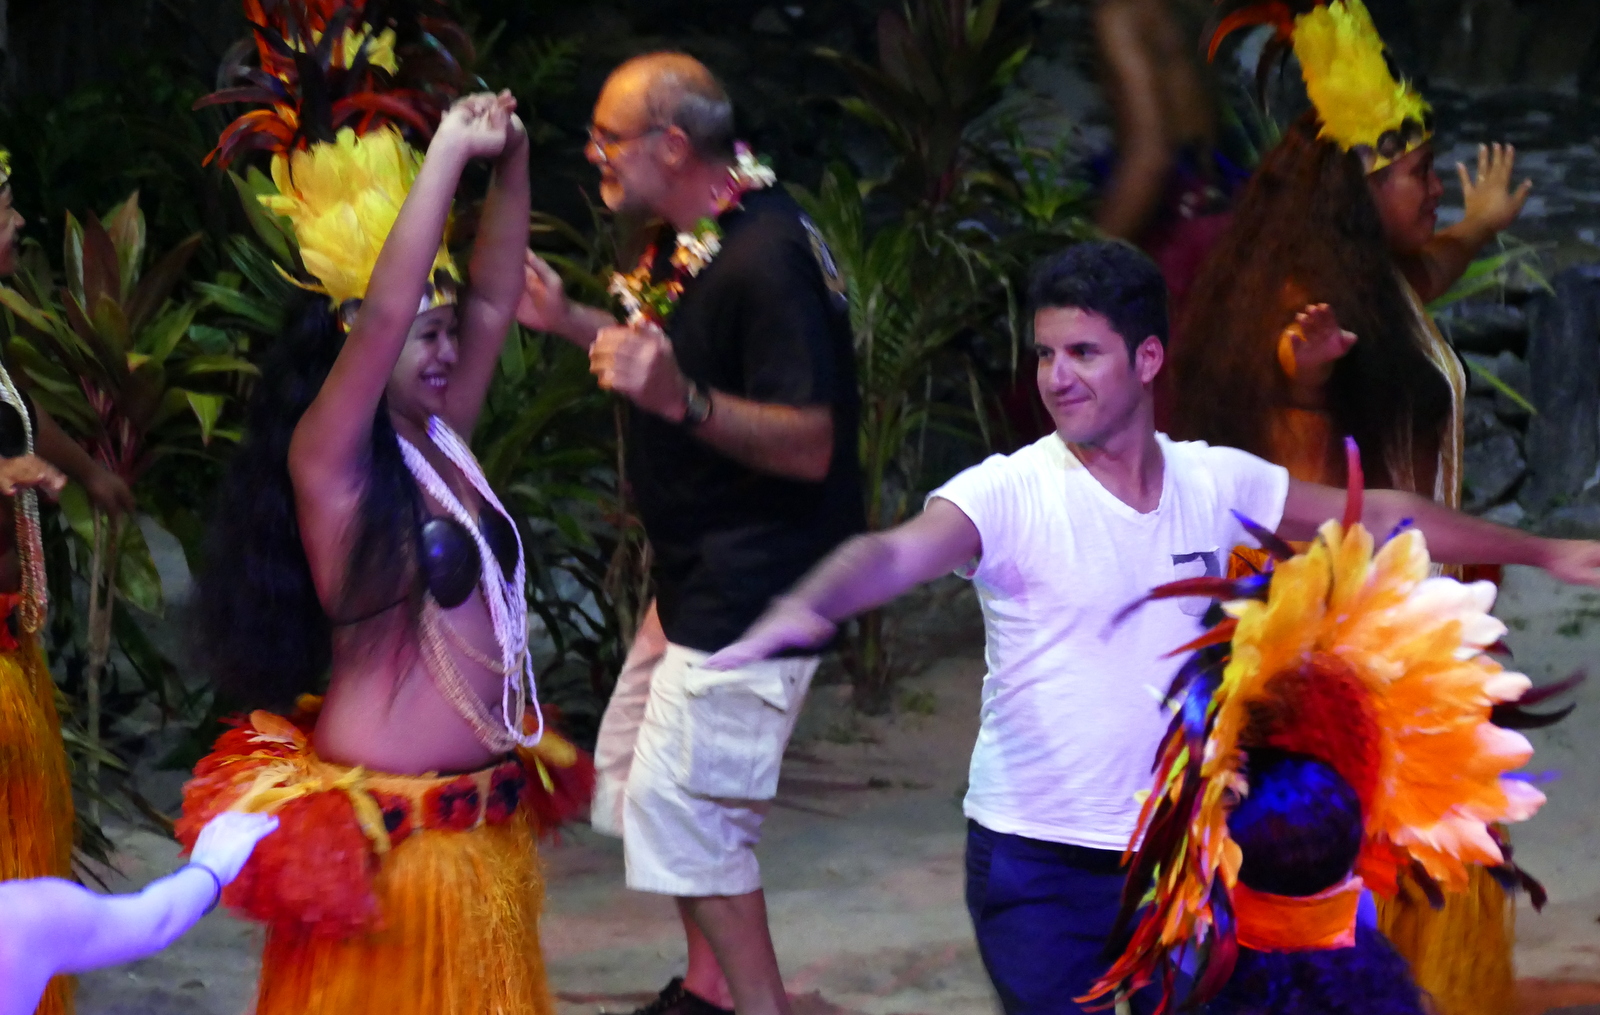
M422 155L390 126L357 134L341 130L333 144L272 158L277 194L261 195L269 211L294 227L301 261L336 307L366 296L378 255L400 216ZM461 272L440 245L432 280L418 312L456 303Z

